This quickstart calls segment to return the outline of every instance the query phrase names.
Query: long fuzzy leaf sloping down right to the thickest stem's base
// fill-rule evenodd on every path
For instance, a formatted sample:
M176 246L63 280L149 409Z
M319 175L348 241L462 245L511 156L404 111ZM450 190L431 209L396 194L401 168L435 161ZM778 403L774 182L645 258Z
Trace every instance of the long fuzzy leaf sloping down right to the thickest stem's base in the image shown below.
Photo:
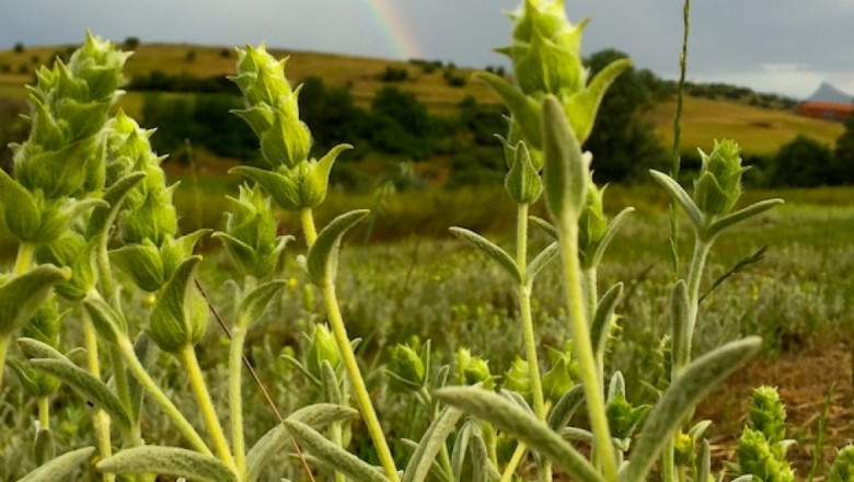
M513 435L531 449L561 466L576 480L603 480L587 459L544 422L495 392L475 387L448 387L438 390L436 398Z

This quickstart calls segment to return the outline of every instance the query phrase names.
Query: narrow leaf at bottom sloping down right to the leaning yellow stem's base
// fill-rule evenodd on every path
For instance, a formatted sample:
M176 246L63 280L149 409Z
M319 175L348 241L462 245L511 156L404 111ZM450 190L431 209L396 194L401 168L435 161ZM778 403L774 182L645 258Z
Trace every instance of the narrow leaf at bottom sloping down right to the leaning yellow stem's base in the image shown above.
M333 444L310 426L289 418L284 424L301 447L333 466L338 472L360 482L389 482L379 468L366 463L355 455Z

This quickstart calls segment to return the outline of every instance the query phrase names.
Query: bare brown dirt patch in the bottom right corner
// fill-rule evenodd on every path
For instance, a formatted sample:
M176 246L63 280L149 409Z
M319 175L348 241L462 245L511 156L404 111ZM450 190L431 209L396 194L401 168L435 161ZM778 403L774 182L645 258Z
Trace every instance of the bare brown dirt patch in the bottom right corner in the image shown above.
M735 445L747 418L748 399L753 388L761 385L777 387L786 404L787 435L797 441L789 449L789 460L799 478L809 472L821 406L831 387L834 388L822 460L831 463L836 448L852 441L851 343L826 338L753 362L697 408L695 420L715 421L708 434L716 467L719 468L724 460L734 460ZM820 468L817 475L827 473L827 467Z

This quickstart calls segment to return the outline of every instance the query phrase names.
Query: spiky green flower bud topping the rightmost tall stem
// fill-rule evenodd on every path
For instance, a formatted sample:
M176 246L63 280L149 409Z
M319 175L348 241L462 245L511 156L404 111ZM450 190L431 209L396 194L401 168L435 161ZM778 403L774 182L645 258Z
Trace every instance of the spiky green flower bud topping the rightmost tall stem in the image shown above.
M712 153L700 150L703 165L694 181L694 202L706 215L724 215L741 196L741 149L731 140L715 141Z

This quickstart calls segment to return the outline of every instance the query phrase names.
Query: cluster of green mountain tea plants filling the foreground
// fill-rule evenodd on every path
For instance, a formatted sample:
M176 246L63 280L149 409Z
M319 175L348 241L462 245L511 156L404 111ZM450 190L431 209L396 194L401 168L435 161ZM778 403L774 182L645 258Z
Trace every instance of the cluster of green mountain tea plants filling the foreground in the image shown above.
M224 229L211 233L234 266L228 321L198 279L201 256L194 248L208 231L178 232L174 185L166 184L164 157L149 142L153 130L120 110L113 114L129 54L86 35L67 64L42 67L30 89L30 138L12 147L12 174L0 171L3 220L19 241L12 271L0 277L0 366L13 374L2 378L0 371L0 393L25 393L38 408L31 440L37 467L19 480L712 480L703 436L712 422L693 423L694 408L761 342L748 337L693 357L704 266L718 237L781 200L735 210L747 168L730 140L702 153L691 193L674 176L651 173L688 218L694 249L686 276L672 284L660 369L643 380L658 398L633 404L624 376L607 356L620 336L623 286L600 295L597 280L609 243L633 209L609 219L605 186L597 186L589 170L595 153L582 150L602 96L630 62L614 61L589 79L580 54L587 21L569 23L561 0L524 0L509 16L512 39L499 51L512 61L515 83L487 72L476 77L510 113L507 131L497 137L508 168L505 188L518 207L515 250L451 228L499 266L518 299L519 323L506 331L521 335L523 356L503 375L489 371L484 354L463 347L452 360L441 360L432 351L439 341L417 338L390 349L385 371L362 371L366 365L355 354L359 341L347 333L335 282L342 239L369 213L342 214L320 230L313 216L336 158L350 146L309 157L312 137L300 120L300 89L291 89L286 61L264 45L238 49L231 78L245 101L234 114L257 135L264 165L232 170L245 183L230 198ZM550 220L529 217L540 197ZM284 414L269 397L268 406L247 406L243 381L244 370L255 376L244 356L247 331L288 285L277 266L290 251L290 237L277 233L274 206L299 215L308 251L298 264L321 294L328 323L313 326L307 353L291 351L284 358L320 398ZM547 246L529 249L531 227L550 238ZM543 347L531 306L534 279L550 264L559 266L563 286L542 289L563 290L572 336ZM142 294L146 306L130 308L128 292ZM199 363L209 313L229 340L227 379L206 374ZM61 325L82 332L83 346L62 343ZM193 403L178 403L159 383L154 374L164 359L181 366ZM406 426L383 425L366 382L378 377L408 398ZM211 383L227 393L226 411L211 400ZM79 399L67 399L61 386ZM60 393L61 404L50 403ZM67 412L51 413L51 406L76 404L92 406L93 433L57 454L55 427ZM250 410L270 411L279 423L247 439ZM175 446L147 441L152 411L169 421ZM367 428L367 448L354 447L355 423ZM757 390L729 466L737 480L792 480L784 436L785 411L775 390ZM286 472L269 479L275 468L268 466L282 454ZM851 480L852 464L854 451L843 449L830 480Z

